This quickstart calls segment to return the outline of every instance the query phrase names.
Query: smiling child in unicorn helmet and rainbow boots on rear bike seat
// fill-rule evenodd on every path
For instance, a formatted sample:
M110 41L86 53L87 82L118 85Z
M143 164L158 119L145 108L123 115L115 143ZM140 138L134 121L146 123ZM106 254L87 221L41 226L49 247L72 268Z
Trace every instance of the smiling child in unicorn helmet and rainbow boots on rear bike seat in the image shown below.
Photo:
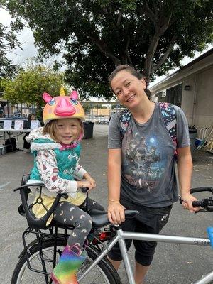
M63 90L62 90L63 91ZM50 97L44 93L43 99L47 103L43 110L45 126L31 131L27 137L31 142L34 155L34 167L31 180L28 183L42 181L43 204L48 209L55 200L57 193L67 193L67 200L58 204L53 212L53 219L67 226L74 226L67 246L60 257L60 261L53 269L51 277L57 284L77 283L77 269L84 262L87 253L84 242L92 227L92 218L82 210L85 209L86 195L80 190L88 187L92 190L96 186L94 179L79 165L80 141L83 137L82 120L84 110L77 101L78 94L73 91L70 97L61 92L58 97ZM74 175L82 179L75 181ZM103 207L88 199L88 209L103 210ZM40 218L45 214L41 204L33 206L33 212ZM48 224L50 220L48 220Z

